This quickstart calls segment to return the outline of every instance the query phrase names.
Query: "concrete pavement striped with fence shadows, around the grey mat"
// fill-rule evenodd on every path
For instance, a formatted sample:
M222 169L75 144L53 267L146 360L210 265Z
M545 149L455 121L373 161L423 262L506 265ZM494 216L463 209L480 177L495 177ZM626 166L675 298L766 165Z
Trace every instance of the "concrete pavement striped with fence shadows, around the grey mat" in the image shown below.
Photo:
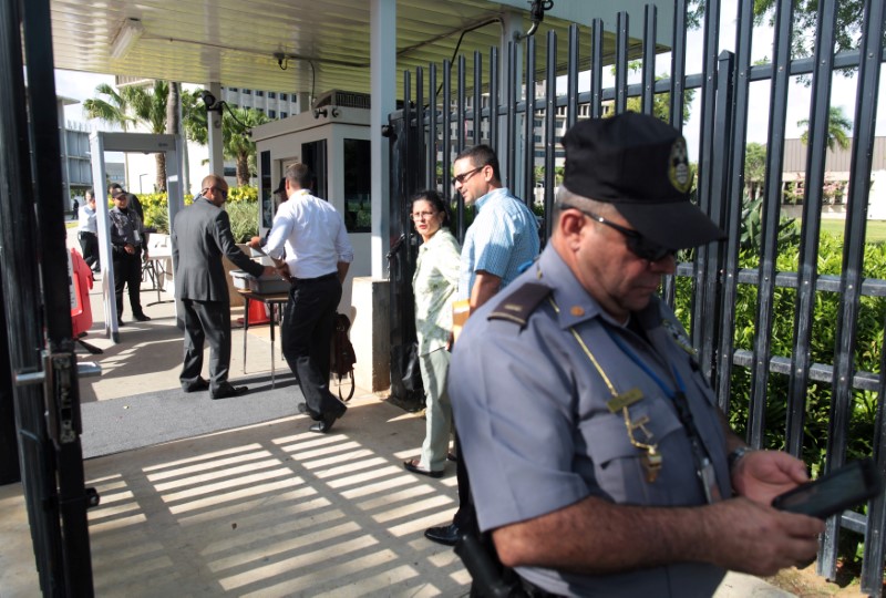
M143 300L153 293L143 292ZM101 295L93 291L96 322ZM128 306L127 306L128 308ZM146 307L105 350L101 378L81 380L83 401L175 389L182 334L174 303ZM235 315L236 318L236 315ZM97 327L95 327L97 330ZM268 371L267 327L250 328L248 373ZM234 336L233 378L243 371ZM286 371L277 349L278 371ZM249 395L235 399L249 409ZM408 473L424 421L357 391L328 435L295 414L237 430L85 461L101 495L89 513L95 595L464 596L471 578L451 548L423 532L457 506L454 466L431 480ZM40 592L21 485L0 486L0 595ZM730 574L720 598L791 596Z

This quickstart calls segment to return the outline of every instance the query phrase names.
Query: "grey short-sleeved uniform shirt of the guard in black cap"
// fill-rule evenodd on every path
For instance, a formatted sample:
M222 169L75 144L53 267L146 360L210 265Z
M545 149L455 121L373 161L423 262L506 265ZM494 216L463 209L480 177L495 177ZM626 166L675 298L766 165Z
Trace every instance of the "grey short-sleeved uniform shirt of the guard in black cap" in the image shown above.
M525 327L491 319L527 283L550 287ZM671 310L653 298L632 315L646 339L612 321L548 246L503 296L471 316L455 346L450 394L480 527L490 530L532 519L588 496L626 505L705 504L689 436L664 391L641 361L671 389L682 384L722 496L732 494L725 437L713 393L694 364L686 333ZM632 421L649 417L663 456L648 482L642 454L630 443L622 413L611 413L611 392L573 337L573 327L618 393L638 389ZM629 357L618 343L629 348ZM676 372L676 373L672 373ZM677 382L679 380L680 382ZM637 543L646 542L643 530ZM686 563L625 574L583 576L519 568L534 584L567 596L710 596L725 571Z

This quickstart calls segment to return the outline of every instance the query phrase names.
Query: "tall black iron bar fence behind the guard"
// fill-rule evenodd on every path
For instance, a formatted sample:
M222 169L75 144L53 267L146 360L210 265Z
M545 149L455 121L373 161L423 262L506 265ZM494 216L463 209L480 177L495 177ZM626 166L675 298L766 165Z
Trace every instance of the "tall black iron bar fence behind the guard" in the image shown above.
M507 55L496 49L471 60L459 56L454 64L430 64L404 76L404 109L391 116L408 143L408 152L393 161L392 185L399 202L392 212L393 234L409 235L405 202L421 188L439 188L454 202L456 236L463 239L465 208L453 197L447 179L455 154L475 143L488 143L499 155L503 183L527 204L535 205L545 221L544 238L550 233L556 188L556 169L562 147L559 137L577 120L607 113L638 110L682 127L690 94L698 94L693 110L700 110L700 135L689 140L690 154L698 159L697 199L699 205L729 234L729 240L700 248L682 261L663 292L672 303L683 307L686 321L699 351L702 368L710 377L724 411L733 425L746 431L756 447L783 447L810 458L813 430L806 414L824 409L822 433L826 435L818 473L842 465L857 446L875 457L886 474L883 369L884 319L886 318L886 271L865 276L865 231L870 199L874 124L878 102L879 73L884 62L884 3L864 3L861 42L856 51L835 53L836 0L817 6L814 31L815 55L792 58L793 3L780 0L773 13L772 60L752 64L754 35L753 2L739 2L734 20L734 51L720 49L721 3L707 2L703 17L702 71L687 74L688 12L686 0L676 2L670 64L658 74L655 7L647 7L642 40L629 37L629 18L619 14L616 31L608 32L600 20L589 31L573 27L568 40L550 32L545 40L529 38L512 42ZM730 20L730 22L732 22ZM544 45L539 45L544 43ZM537 50L544 63L537 63ZM540 53L540 52L538 52ZM468 65L468 62L471 63ZM615 84L604 85L611 69ZM820 274L822 258L823 187L828 145L828 118L834 72L853 71L856 106L852 125L852 161L846 194L845 228L836 274ZM630 82L639 71L639 81ZM587 74L586 74L587 73ZM589 83L581 87L583 78ZM812 99L807 114L807 161L803 184L801 223L785 225L782 208L784 141L789 122L789 90L792 80L806 79ZM765 144L765 176L762 202L745 198L745 161L751 85L769 84L769 117ZM408 123L409 126L405 126ZM419 168L409 176L398 168ZM540 168L539 168L540 167ZM536 192L536 189L538 189ZM537 198L536 198L537 195ZM748 229L748 220L756 223ZM787 246L796 251L793 266L779 266L786 245L785 227L793 230ZM749 239L749 237L751 237ZM791 245L793 243L793 245ZM409 266L409 262L406 262ZM869 269L869 265L868 269ZM401 272L411 280L411 272ZM405 291L409 292L409 291ZM751 297L751 315L736 305ZM744 299L743 299L744 298ZM777 320L789 305L786 327ZM814 341L822 337L822 302L835 302L825 326L832 337L830 362L815 361ZM859 348L859 316L877 319L875 330L865 332ZM394 318L395 319L395 318ZM748 332L750 330L750 333ZM790 337L790 339L784 339ZM777 353L777 347L789 347ZM869 352L874 352L874 357ZM865 353L865 360L859 353ZM877 354L878 353L878 354ZM874 365L868 370L861 363ZM736 399L739 392L742 399ZM817 394L816 394L817 393ZM827 404L813 404L811 396L823 396ZM857 419L859 396L873 405L868 425L852 426ZM873 399L872 399L873 398ZM863 411L863 410L862 410ZM773 416L774 414L774 416ZM821 424L821 422L818 422ZM851 434L851 430L853 433ZM859 434L864 437L853 437ZM816 432L817 433L817 432ZM813 439L814 440L814 439ZM864 448L866 447L866 448ZM862 588L879 595L883 581L886 501L868 504L866 514L846 512L827 523L818 558L818 573L836 576L841 534L864 536Z

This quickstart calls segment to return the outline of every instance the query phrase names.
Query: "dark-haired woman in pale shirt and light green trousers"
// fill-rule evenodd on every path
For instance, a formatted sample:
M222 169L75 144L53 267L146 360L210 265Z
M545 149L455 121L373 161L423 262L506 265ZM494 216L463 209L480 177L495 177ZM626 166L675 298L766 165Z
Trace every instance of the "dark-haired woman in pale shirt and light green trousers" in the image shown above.
M435 190L418 193L412 198L410 216L423 241L419 247L412 288L427 425L421 457L404 461L403 466L413 473L440 477L446 465L452 431L446 373L461 247L446 228L449 210Z

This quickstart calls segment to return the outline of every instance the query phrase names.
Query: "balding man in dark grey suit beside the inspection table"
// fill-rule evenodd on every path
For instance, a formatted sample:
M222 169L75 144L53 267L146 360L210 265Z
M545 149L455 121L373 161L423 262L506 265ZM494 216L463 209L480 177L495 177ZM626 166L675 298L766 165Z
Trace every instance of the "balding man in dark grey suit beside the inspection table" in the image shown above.
M222 209L228 198L225 179L209 175L200 187L194 204L175 217L172 235L175 296L185 312L185 361L178 380L185 392L210 389L213 399L225 399L248 389L228 382L230 297L222 256L253 276L275 270L249 259L234 243L230 219ZM204 339L209 342L208 382L200 378Z

